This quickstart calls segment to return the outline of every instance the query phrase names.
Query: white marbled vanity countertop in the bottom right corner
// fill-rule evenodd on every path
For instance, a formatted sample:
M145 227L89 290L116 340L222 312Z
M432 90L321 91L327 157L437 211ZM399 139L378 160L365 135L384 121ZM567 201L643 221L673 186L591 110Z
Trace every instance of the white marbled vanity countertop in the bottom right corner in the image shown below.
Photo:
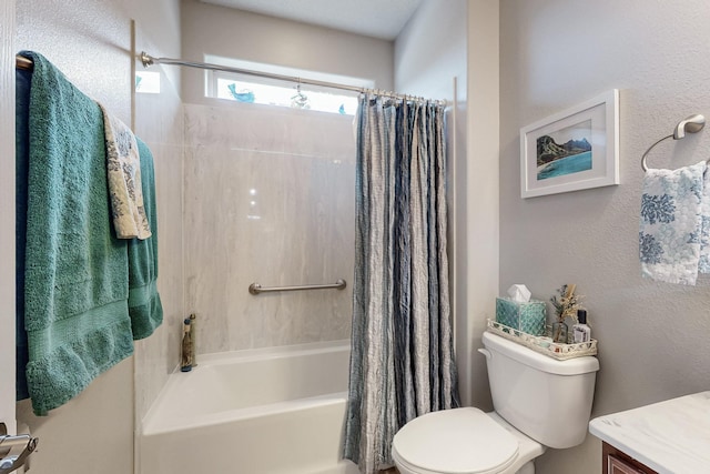
M710 473L710 391L599 416L589 432L661 474Z

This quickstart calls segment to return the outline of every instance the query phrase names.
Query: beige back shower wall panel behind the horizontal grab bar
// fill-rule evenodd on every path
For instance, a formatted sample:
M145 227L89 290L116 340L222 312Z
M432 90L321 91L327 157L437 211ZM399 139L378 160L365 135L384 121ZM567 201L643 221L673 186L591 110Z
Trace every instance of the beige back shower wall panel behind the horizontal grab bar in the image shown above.
M197 354L349 337L353 117L185 104L184 256ZM263 286L347 281L345 290Z

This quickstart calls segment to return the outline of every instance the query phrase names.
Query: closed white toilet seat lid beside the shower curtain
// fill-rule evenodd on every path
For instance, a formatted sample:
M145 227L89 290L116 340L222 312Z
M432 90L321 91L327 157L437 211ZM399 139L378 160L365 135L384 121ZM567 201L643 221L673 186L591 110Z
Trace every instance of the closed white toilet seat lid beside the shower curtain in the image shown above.
M510 466L518 440L478 409L427 413L402 427L392 456L417 474L494 474Z

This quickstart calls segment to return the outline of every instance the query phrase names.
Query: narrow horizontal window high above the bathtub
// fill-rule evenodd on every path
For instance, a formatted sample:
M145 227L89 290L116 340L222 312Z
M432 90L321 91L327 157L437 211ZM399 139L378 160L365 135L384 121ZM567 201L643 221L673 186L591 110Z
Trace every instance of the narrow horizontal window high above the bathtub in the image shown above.
M227 60L225 58L213 58L212 62L239 69L303 78L304 80L312 79L358 88L372 88L373 85L373 81L358 78L315 73L270 64ZM347 90L321 88L305 83L294 84L291 81L224 71L207 71L205 75L207 82L205 92L207 97L347 115L354 115L357 110L357 93Z

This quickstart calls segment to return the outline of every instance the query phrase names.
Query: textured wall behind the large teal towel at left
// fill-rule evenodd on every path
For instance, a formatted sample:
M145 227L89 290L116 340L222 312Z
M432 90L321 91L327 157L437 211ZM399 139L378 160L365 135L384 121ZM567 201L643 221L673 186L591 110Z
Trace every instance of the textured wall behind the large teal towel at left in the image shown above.
M18 50L41 52L79 89L130 123L130 19L119 4L19 0L17 21ZM132 472L132 359L121 362L48 417L32 415L28 401L18 404L18 421L42 440L32 455L32 472L70 473L78 458L87 472Z

